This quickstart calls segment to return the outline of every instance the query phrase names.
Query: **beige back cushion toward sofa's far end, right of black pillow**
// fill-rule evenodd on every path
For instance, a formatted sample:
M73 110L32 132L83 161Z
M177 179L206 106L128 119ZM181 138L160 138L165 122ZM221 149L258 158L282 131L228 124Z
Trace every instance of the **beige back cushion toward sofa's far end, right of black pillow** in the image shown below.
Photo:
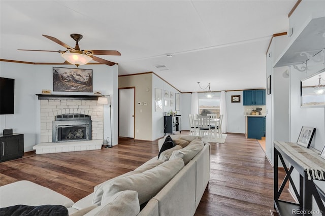
M204 147L203 141L200 139L194 139L185 148L174 151L169 158L173 160L176 158L181 158L186 165L194 156L196 156Z

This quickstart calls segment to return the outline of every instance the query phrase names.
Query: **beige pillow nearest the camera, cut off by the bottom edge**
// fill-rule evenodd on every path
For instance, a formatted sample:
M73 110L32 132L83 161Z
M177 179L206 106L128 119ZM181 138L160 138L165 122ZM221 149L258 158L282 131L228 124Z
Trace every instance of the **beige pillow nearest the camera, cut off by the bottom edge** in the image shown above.
M129 215L136 216L140 212L138 193L136 191L121 191L85 216Z

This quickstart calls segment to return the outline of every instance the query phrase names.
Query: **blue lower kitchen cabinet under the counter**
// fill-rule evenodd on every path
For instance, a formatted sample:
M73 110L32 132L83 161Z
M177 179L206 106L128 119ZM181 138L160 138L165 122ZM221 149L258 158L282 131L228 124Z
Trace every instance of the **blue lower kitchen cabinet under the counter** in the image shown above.
M265 117L247 117L247 138L262 139L265 136Z

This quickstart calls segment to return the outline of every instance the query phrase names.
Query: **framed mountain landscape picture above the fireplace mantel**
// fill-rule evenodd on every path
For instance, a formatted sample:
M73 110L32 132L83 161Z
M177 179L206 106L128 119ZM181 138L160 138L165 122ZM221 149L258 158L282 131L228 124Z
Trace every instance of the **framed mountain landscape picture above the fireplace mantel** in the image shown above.
M92 92L92 69L53 67L53 91Z

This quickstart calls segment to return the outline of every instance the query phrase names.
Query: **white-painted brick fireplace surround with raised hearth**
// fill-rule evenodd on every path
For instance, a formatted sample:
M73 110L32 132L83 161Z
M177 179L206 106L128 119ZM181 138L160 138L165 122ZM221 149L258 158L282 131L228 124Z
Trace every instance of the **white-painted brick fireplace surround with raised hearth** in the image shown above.
M103 144L104 137L104 118L103 118L103 105L97 104L96 99L71 99L71 98L40 98L41 109L41 131L40 131L40 144L34 146L37 154L53 153L53 152L70 152L100 149ZM67 140L53 141L53 125L57 118L65 118L72 116L86 118L89 117L90 127L89 140ZM66 121L61 121L66 122ZM55 127L55 126L54 126ZM78 132L77 128L77 132ZM79 130L80 131L80 130ZM65 135L67 136L67 135ZM78 135L77 135L78 137ZM69 137L68 137L69 138ZM86 141L85 141L86 140ZM94 143L95 147L89 147L89 143ZM38 151L40 147L46 147L47 150ZM58 147L58 148L57 148Z

